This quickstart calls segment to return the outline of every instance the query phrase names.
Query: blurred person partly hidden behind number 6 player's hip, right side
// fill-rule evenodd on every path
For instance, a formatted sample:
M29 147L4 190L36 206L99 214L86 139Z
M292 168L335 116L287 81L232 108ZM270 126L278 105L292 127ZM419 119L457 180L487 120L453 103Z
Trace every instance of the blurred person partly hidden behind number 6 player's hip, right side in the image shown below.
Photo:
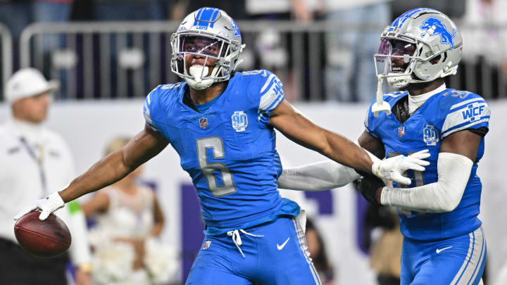
M325 243L317 228L315 228L313 220L310 218L306 220L306 243L308 243L310 258L313 260L313 265L315 265L315 270L319 274L320 281L322 281L323 285L333 285L333 268L327 259Z

